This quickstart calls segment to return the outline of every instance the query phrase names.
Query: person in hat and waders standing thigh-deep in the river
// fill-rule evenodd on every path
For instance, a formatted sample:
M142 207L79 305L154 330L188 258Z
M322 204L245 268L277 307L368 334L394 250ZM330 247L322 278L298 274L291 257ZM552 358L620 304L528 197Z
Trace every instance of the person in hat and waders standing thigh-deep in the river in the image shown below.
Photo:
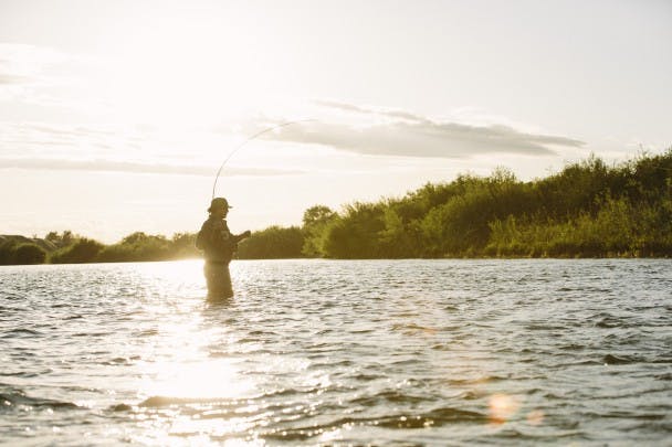
M233 296L229 263L233 258L238 243L251 234L249 231L239 235L231 234L227 225L227 214L230 207L227 199L212 199L208 209L210 216L203 222L196 238L196 246L203 251L206 258L203 274L208 283L208 298L210 299Z

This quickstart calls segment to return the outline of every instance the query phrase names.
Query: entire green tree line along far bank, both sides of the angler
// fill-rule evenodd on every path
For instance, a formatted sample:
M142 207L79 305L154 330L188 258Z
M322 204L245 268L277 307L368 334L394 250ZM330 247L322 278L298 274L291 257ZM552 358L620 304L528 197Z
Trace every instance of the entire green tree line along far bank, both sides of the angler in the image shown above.
M0 264L198 257L195 234L133 233L104 245L72 232L0 236ZM672 148L608 167L567 164L528 182L497 169L427 183L401 198L305 211L301 226L254 232L241 259L672 256Z

